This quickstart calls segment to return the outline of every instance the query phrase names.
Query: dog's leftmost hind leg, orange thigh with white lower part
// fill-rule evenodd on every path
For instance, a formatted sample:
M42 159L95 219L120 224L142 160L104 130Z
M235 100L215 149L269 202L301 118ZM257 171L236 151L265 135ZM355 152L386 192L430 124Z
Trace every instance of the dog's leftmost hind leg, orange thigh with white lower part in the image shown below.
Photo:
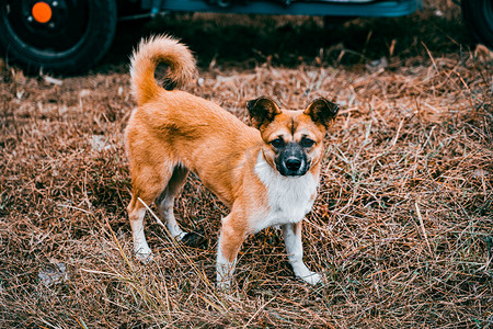
M139 167L138 171L133 170L133 195L127 211L134 238L134 251L136 257L142 262L152 260L152 251L147 243L144 232L146 205L150 206L163 188L168 185L172 173L169 167L164 167L161 171L157 171L151 167Z

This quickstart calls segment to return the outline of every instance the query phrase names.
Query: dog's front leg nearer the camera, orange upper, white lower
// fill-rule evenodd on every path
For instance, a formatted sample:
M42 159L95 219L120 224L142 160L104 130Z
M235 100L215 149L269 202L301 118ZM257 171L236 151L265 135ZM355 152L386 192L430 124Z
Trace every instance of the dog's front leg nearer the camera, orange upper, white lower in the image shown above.
M244 222L238 220L233 213L222 219L217 247L217 286L228 290L237 264L238 251L246 237Z

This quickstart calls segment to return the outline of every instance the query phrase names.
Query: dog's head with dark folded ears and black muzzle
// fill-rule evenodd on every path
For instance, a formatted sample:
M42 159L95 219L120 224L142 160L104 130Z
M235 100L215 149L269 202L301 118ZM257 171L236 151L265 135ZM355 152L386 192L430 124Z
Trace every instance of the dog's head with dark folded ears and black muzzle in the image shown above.
M302 175L320 161L325 132L339 110L323 98L300 111L280 110L264 97L246 102L246 106L265 143L265 160L287 177Z

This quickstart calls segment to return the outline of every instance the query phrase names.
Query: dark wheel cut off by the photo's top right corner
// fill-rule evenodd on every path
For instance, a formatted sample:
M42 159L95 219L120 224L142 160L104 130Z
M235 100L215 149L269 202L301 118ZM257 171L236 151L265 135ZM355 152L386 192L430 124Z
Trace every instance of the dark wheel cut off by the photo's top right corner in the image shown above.
M472 35L493 49L493 0L462 0L460 4Z

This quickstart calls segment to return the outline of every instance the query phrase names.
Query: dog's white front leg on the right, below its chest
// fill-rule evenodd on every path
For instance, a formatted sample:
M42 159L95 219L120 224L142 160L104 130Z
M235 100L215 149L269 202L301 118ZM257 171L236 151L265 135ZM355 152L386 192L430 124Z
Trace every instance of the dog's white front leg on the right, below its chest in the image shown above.
M303 246L301 242L301 222L296 224L283 225L284 241L286 243L286 251L289 263L293 266L295 275L308 282L309 284L317 284L322 279L320 274L310 271L303 263Z

